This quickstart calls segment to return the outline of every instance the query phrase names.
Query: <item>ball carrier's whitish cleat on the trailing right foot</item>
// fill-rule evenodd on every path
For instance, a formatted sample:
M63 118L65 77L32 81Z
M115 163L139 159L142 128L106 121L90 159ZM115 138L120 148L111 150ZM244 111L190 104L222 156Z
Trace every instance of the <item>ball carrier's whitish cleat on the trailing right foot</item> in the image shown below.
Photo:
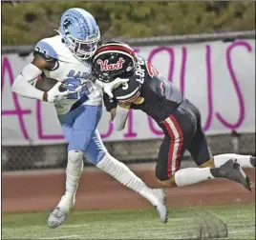
M155 189L153 190L154 195L158 198L158 202L154 204L154 208L158 211L160 215L160 221L162 223L167 223L168 221L168 209L166 206L166 194L164 190Z

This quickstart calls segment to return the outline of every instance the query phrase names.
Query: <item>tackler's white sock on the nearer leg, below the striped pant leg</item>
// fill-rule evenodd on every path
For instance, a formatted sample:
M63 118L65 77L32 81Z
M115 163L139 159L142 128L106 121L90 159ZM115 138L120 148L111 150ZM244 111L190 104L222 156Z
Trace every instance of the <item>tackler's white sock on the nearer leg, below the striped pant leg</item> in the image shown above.
M214 179L210 168L187 168L175 172L174 179L178 187L192 185L208 179Z

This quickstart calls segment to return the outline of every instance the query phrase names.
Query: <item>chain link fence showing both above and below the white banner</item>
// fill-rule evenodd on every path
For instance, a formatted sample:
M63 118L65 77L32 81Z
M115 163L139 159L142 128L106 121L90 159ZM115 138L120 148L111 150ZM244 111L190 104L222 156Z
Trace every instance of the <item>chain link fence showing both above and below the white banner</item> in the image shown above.
M118 39L130 45L164 45L184 44L203 41L233 41L240 38L255 39L255 30L239 32L223 32L202 35L186 36L162 36L147 39ZM2 52L19 53L31 52L32 46L6 46ZM3 126L2 126L3 128ZM230 134L207 136L209 147L213 154L223 152L236 152L252 154L255 152L255 132L238 134L233 131ZM124 163L154 162L157 160L161 139L144 141L107 142L106 148L118 160ZM184 160L191 161L188 152L184 154ZM67 145L6 147L2 146L2 170L35 170L65 168L67 164ZM86 166L91 165L87 163Z

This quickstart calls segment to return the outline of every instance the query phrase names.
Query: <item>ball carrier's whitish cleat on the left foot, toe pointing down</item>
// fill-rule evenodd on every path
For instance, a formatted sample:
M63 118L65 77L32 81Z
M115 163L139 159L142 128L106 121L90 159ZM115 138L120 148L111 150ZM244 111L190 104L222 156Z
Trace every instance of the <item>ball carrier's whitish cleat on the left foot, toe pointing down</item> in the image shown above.
M63 196L64 197L64 196ZM60 200L60 202L63 200ZM72 208L74 208L75 205L75 198L73 200L73 202L70 204L70 206L68 207L60 207L59 205L53 210L53 212L50 214L48 221L47 221L47 225L49 228L51 229L55 229L57 227L59 227L67 218L68 213L70 212L70 210Z

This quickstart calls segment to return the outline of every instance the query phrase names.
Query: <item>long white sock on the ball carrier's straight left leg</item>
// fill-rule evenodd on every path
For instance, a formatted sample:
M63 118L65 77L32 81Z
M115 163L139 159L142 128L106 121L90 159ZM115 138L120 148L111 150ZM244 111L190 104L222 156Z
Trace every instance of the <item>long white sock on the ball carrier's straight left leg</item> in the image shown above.
M75 192L78 188L80 176L83 171L83 151L69 150L68 164L66 169L66 192L62 196L58 206L62 208L70 207L75 202Z

